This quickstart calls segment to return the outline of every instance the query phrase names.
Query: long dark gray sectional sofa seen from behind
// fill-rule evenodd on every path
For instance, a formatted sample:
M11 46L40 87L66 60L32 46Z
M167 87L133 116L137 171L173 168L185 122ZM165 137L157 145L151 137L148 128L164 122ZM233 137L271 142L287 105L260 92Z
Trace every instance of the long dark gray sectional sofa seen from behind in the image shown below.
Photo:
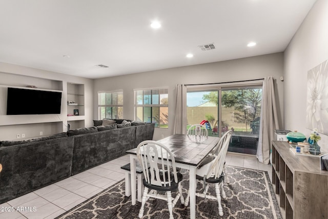
M0 204L126 154L152 140L154 124L82 128L0 146ZM103 127L101 127L103 128ZM103 130L103 129L99 130Z

